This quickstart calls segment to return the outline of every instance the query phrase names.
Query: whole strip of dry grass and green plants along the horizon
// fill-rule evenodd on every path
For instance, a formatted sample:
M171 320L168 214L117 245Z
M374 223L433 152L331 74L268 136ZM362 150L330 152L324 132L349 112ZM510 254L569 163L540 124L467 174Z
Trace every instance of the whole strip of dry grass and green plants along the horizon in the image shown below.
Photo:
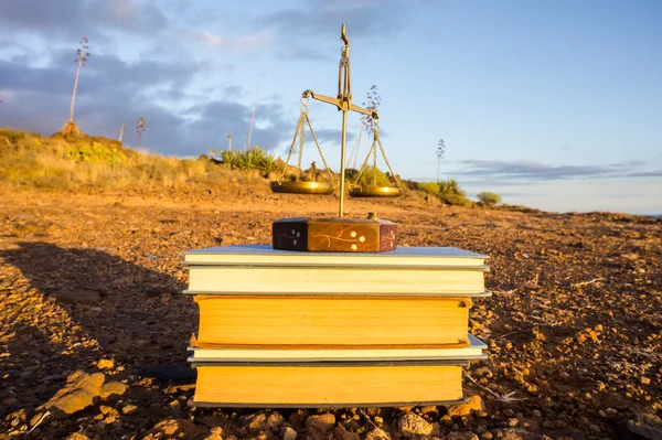
M268 193L266 180L284 174L285 162L259 147L246 151L210 151L197 159L166 158L156 152L127 149L120 142L85 135L42 137L0 129L0 182L52 190L216 191L242 185ZM285 169L286 180L325 181L329 174L314 162L299 173ZM338 179L338 174L334 174ZM473 206L457 181L414 182L401 179L407 197L436 200L447 205ZM388 173L366 167L360 175L346 170L346 185L395 186ZM480 203L493 206L501 197L481 193Z

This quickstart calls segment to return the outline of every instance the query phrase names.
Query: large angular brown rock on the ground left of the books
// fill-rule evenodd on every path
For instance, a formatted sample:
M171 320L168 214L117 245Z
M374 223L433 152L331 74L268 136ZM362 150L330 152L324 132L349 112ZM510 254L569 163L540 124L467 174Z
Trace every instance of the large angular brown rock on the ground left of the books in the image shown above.
M87 408L102 390L104 374L87 374L81 371L72 373L66 378L66 385L61 388L39 409L49 410L55 418L62 419Z

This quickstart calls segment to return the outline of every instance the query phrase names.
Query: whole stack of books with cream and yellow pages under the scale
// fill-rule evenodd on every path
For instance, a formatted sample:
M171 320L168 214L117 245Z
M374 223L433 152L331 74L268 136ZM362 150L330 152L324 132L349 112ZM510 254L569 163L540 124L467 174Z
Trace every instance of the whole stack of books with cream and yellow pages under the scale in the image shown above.
M484 357L469 308L484 255L226 246L183 253L200 308L194 404L216 407L445 405Z

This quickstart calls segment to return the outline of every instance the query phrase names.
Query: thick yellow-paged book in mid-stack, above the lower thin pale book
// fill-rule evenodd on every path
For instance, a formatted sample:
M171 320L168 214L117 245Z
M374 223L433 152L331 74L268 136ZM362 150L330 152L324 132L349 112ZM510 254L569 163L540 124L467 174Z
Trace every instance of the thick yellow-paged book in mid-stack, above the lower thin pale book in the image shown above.
M210 296L203 348L449 348L469 345L471 300L399 296Z

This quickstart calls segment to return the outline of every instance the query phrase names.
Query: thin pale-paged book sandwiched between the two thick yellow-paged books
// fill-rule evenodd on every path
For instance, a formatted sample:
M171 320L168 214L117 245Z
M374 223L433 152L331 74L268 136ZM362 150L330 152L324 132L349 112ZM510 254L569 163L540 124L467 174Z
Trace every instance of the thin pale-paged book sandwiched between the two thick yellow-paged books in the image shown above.
M470 345L459 348L201 348L190 346L189 362L346 362L346 361L462 361L487 358L488 346L472 334Z

